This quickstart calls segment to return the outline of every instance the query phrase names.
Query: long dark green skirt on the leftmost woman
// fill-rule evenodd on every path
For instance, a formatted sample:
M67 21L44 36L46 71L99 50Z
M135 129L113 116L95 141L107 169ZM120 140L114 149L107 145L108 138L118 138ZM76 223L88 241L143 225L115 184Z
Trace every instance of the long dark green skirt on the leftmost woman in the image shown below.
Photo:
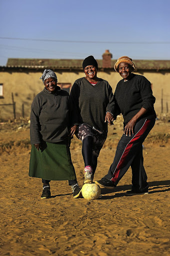
M38 151L32 145L29 176L46 180L76 179L69 146L62 143L44 142Z

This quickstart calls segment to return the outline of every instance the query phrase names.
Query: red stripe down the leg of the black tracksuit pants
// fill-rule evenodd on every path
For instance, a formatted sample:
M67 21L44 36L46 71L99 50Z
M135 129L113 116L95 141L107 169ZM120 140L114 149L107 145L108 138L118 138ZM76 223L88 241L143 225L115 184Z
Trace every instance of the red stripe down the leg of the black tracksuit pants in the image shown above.
M142 126L142 128L137 132L137 134L129 141L129 143L127 144L120 160L119 163L115 169L115 172L113 173L113 177L111 178L111 180L113 182L115 182L119 176L119 172L121 170L122 164L124 163L126 157L128 156L128 153L130 151L130 149L132 148L134 141L136 141L137 139L140 138L140 136L146 131L148 124L150 123L151 120L146 120L146 122L144 123L144 125Z

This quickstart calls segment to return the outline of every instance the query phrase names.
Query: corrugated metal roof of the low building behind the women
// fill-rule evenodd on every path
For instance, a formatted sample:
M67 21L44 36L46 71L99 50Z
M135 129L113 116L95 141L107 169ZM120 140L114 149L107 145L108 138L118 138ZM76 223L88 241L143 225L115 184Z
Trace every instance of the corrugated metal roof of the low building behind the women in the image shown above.
M116 59L112 59L112 66ZM133 60L137 69L170 69L170 60ZM83 59L39 59L39 58L8 58L6 67L82 69ZM97 59L102 68L102 59Z

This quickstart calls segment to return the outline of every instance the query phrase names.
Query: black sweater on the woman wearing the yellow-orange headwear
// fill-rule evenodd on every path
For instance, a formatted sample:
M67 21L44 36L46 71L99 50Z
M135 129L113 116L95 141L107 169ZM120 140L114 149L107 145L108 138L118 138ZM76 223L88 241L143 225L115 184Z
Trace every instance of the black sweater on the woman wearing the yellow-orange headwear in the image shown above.
M156 118L154 110L155 97L151 89L151 83L143 75L132 74L132 77L124 81L120 80L115 90L114 116L122 113L124 123L128 123L132 117L144 107L147 112L141 118Z

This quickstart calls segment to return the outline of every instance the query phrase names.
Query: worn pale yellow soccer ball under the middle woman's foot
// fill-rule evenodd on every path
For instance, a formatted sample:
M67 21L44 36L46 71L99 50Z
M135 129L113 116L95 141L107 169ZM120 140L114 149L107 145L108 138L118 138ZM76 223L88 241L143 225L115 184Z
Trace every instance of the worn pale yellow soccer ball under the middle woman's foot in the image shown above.
M82 195L87 200L94 200L99 198L101 194L100 186L96 183L85 183L81 189Z

